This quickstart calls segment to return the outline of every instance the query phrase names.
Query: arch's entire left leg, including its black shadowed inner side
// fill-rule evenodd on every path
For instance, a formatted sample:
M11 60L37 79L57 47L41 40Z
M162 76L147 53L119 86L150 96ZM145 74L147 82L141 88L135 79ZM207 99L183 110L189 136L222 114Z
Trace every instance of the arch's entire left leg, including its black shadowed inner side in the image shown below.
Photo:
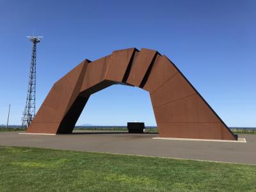
M72 132L88 100L88 97L79 96L88 62L90 61L84 60L54 83L26 132Z

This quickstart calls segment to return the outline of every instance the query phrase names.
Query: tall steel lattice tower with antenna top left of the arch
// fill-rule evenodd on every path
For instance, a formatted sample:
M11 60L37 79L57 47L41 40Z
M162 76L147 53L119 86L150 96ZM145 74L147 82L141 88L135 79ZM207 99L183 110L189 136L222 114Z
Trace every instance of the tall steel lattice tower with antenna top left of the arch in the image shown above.
M25 110L22 115L22 127L28 128L28 125L35 117L36 101L36 44L41 41L43 36L27 36L32 42L32 56L29 72L28 94Z

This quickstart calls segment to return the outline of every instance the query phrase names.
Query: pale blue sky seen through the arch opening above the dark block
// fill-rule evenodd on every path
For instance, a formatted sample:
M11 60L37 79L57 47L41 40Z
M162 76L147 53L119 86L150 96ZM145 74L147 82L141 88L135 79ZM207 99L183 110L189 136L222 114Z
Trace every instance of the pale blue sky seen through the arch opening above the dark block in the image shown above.
M90 96L76 127L118 128L126 127L127 122L144 122L146 127L156 126L150 95L141 88L113 84Z

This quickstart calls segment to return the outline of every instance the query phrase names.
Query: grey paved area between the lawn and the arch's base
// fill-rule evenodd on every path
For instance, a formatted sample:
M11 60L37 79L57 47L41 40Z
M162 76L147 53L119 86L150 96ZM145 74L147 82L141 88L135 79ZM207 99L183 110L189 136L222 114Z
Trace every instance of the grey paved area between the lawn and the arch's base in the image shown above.
M0 145L256 164L256 134L239 135L246 138L247 143L152 139L157 136L99 131L56 136L1 132Z

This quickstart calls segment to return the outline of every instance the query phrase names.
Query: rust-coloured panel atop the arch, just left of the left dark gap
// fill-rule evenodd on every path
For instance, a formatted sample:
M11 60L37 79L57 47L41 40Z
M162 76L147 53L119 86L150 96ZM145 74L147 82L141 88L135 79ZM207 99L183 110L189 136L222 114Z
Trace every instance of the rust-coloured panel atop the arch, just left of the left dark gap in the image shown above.
M135 48L113 51L104 79L122 82L135 51Z

